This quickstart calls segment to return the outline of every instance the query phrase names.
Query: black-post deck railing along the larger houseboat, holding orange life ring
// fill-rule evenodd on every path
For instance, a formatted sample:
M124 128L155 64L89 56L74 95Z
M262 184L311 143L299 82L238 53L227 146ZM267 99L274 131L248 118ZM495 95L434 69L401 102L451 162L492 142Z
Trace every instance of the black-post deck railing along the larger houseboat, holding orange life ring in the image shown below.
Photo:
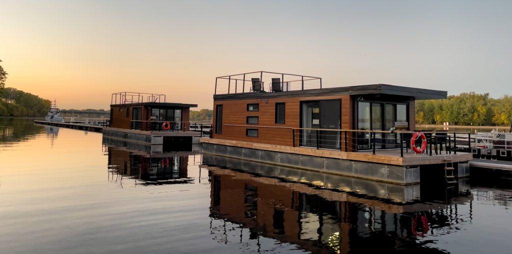
M411 139L415 133L425 135L426 146L421 151L422 155L457 154L457 152L471 152L474 138L467 131L409 131L409 130L350 130L350 129L318 129L318 128L294 128L262 125L230 125L225 127L246 129L277 129L283 133L275 138L275 143L289 144L292 147L305 147L312 149L338 150L342 152L372 152L400 150L403 157L404 150L409 153L412 150ZM255 138L262 138L260 135ZM422 137L415 142L416 147L421 147ZM258 141L255 140L255 143ZM472 145L473 144L473 145Z

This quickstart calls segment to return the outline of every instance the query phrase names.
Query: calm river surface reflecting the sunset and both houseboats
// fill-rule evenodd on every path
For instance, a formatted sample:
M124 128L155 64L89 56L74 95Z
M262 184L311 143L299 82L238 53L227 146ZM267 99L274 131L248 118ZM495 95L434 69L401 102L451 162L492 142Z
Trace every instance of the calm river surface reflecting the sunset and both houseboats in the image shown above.
M512 248L507 189L406 189L200 153L150 155L31 120L0 119L0 204L0 253Z

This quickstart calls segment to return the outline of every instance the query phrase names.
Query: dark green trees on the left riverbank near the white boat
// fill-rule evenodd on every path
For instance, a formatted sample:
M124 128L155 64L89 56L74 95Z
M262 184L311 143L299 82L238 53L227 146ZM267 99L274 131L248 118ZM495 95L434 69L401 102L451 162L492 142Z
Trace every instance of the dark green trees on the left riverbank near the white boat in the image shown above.
M0 117L44 117L51 101L16 88L3 88L0 93Z

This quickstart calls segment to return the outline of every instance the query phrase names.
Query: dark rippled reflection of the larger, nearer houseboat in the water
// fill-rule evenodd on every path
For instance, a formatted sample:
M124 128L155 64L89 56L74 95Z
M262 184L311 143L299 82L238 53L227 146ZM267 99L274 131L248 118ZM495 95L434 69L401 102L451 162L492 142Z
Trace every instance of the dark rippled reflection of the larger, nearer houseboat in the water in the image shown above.
M446 253L426 246L433 243L426 239L472 221L469 196L452 197L450 203L396 202L299 179L283 181L261 170L255 175L246 166L244 172L205 166L211 179L210 229L220 243L244 245L263 237L313 253ZM459 211L459 205L470 208Z

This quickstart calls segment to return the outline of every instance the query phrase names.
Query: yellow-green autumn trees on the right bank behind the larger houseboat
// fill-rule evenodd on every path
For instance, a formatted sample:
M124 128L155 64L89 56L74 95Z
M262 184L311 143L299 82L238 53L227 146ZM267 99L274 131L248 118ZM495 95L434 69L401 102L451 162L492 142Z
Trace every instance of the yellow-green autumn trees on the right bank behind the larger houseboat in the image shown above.
M416 101L416 123L451 125L498 125L512 123L512 97L490 98L488 93L462 93L445 100Z

